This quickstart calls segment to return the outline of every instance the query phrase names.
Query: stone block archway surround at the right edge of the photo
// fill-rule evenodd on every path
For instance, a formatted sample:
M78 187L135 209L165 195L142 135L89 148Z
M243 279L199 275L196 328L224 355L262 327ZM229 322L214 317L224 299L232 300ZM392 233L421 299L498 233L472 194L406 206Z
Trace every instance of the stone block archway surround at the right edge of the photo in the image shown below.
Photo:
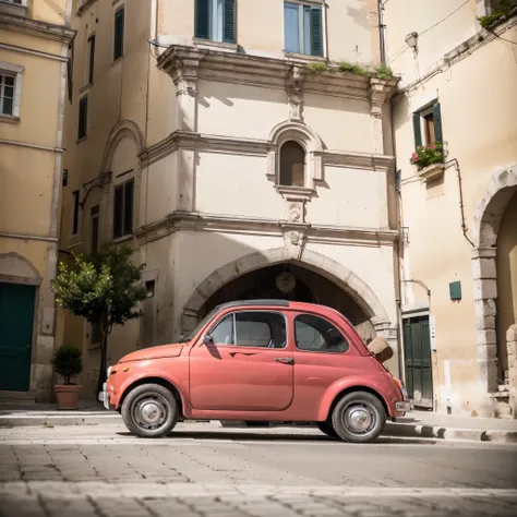
M494 173L476 215L472 255L479 383L484 394L497 392L497 236L510 199L517 192L517 166Z

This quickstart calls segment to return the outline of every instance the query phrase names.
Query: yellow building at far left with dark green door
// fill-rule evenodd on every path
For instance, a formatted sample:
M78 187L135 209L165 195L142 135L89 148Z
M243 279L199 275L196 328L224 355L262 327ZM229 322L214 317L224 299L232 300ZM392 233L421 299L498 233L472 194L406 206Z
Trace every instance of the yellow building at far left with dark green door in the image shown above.
M72 0L0 2L0 400L49 400Z

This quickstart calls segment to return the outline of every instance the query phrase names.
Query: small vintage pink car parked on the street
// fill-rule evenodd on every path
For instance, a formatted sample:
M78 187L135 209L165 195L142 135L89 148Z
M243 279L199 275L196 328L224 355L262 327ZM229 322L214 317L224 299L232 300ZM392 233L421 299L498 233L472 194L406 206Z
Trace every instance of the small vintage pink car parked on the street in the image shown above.
M284 300L225 303L179 344L125 356L108 369L104 404L142 437L197 419L315 422L371 442L409 410L401 383L346 317Z

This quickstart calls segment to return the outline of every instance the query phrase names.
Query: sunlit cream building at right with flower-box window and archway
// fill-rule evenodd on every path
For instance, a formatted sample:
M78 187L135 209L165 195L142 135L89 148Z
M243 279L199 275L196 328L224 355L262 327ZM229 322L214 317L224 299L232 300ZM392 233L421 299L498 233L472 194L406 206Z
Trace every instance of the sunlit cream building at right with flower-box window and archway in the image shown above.
M517 2L506 4L486 29L479 19L500 2L389 2L384 24L401 74L392 105L406 384L438 411L515 418ZM436 141L441 164L410 164Z

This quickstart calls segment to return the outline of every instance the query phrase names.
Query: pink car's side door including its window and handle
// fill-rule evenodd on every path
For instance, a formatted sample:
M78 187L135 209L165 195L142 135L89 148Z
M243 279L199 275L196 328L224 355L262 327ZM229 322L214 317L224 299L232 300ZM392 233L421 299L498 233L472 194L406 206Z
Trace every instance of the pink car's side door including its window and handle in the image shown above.
M221 315L190 353L190 399L199 410L281 411L293 396L287 320L275 311Z

